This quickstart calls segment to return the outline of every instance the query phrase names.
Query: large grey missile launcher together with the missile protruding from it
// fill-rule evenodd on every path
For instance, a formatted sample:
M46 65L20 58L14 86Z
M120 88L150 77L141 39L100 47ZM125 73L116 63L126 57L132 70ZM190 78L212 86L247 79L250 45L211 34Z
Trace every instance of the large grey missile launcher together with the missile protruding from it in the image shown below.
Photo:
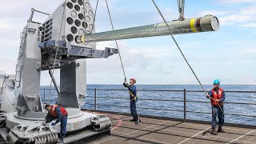
M108 58L118 50L106 47L96 50L96 42L126 38L144 38L170 34L164 23L139 26L123 30L95 33L94 11L89 0L65 0L45 22L30 19L22 31L16 75L0 74L1 98L9 98L1 110L0 133L11 143L56 142L57 126L43 125L46 117L40 98L40 75L42 70L60 69L60 87L57 103L68 111L67 132L87 130L84 138L110 131L111 122L106 116L81 111L86 98L86 58ZM42 13L46 14L46 13ZM218 30L214 16L169 22L173 34L187 34ZM8 87L4 87L6 82ZM4 102L1 99L1 103ZM12 109L8 109L10 105ZM0 105L1 106L1 105ZM15 108L15 112L13 109ZM74 138L73 138L74 139Z

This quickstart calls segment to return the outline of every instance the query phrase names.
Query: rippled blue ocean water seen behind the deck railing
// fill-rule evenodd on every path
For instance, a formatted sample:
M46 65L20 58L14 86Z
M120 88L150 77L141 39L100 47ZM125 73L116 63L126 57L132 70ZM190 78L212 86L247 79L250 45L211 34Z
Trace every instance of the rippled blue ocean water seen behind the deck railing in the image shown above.
M212 86L204 86L206 90L210 90ZM256 91L255 85L223 85L221 86L224 91ZM55 103L57 100L57 93L55 90L51 90L49 96L48 89L50 86L41 87L41 98L49 103ZM52 87L54 88L54 86ZM110 105L110 106L97 106L97 110L106 110L122 113L130 113L129 93L122 85L87 85L87 97L86 104L82 106L85 109L94 110L94 88L97 88L98 105ZM137 90L202 90L197 85L137 85ZM114 91L118 90L118 91ZM160 117L170 118L183 118L183 112L174 110L183 110L183 102L172 101L150 101L140 100L140 98L158 99L158 100L178 100L183 101L183 92L166 92L166 91L138 91L138 114L154 115ZM122 98L122 99L118 99ZM186 92L187 101L204 101L204 102L186 102L187 111L200 111L204 113L211 113L210 99L206 98L206 94L203 92ZM238 124L250 124L256 125L256 93L229 93L226 92L225 102L242 102L242 103L254 103L255 105L246 104L224 104L224 111L226 114L245 114L254 115L255 117L237 116L237 115L225 115L225 122L238 123ZM122 106L122 107L117 107ZM142 108L139 108L142 107ZM144 109L149 108L149 109ZM151 110L150 110L151 109ZM152 110L153 109L153 110ZM158 109L158 110L154 110ZM161 110L159 110L161 109ZM211 121L211 114L198 114L198 113L186 113L187 119Z

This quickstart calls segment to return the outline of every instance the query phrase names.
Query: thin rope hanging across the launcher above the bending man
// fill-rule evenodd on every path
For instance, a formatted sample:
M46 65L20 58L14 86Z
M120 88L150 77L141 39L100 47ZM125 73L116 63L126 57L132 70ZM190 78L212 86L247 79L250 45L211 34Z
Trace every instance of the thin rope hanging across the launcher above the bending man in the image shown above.
M58 42L59 42L59 40L60 40L60 38L61 38L61 34L62 34L62 24L63 24L63 19L64 19L64 15L65 15L65 11L66 11L66 2L64 2L64 4L63 4L62 6L64 6L64 10L63 10L63 14L62 14L62 23L61 23L61 27L60 27L59 34L58 34ZM55 57L54 57L54 69L53 69L53 72L52 72L53 75L54 75L54 70L55 70L55 64L56 64L57 55L58 55L58 46L57 46L56 54L55 54ZM49 70L49 71L50 71L50 70ZM52 85L52 82L53 82L53 79L50 78L50 90L49 90L48 100L47 100L48 103L50 102L50 95L51 95L51 85Z

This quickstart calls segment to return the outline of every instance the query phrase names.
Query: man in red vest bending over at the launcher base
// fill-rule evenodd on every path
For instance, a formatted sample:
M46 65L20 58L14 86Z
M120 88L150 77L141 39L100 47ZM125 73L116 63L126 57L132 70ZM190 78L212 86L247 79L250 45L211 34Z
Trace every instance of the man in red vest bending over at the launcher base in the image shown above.
M51 123L51 126L55 126L58 122L61 122L61 131L58 143L63 143L63 138L66 135L67 111L60 105L47 104L45 108L48 111L48 114L46 115L46 123L57 119L55 122Z

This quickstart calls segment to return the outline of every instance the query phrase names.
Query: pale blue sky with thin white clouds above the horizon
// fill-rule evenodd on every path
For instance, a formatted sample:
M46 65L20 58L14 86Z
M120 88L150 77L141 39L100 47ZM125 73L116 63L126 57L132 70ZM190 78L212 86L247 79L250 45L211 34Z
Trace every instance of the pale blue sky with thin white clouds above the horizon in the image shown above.
M0 6L0 70L15 73L20 33L30 17L30 9L52 12L63 0L4 1ZM90 0L95 7L96 0ZM150 0L109 0L114 28L122 29L163 22ZM155 0L167 21L178 19L176 0ZM185 18L214 14L218 31L175 35L178 44L202 84L218 78L222 84L256 85L256 1L186 0ZM34 21L43 22L41 14ZM106 3L99 0L96 32L111 30ZM119 40L128 78L138 84L198 84L170 36ZM113 47L114 42L98 42L97 49ZM122 84L118 54L104 59L87 59L88 84ZM59 71L54 72L59 81ZM41 85L50 85L48 72L42 72Z

